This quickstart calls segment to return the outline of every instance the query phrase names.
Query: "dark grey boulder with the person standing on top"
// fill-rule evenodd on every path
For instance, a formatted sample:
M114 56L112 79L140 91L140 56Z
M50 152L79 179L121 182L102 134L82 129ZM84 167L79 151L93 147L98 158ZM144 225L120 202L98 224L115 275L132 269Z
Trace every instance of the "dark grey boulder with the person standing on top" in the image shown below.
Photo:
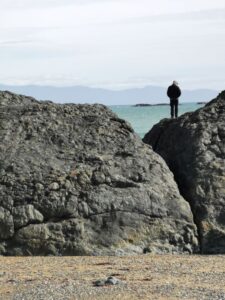
M189 201L203 253L225 253L225 91L193 113L162 120L143 141L174 173Z

